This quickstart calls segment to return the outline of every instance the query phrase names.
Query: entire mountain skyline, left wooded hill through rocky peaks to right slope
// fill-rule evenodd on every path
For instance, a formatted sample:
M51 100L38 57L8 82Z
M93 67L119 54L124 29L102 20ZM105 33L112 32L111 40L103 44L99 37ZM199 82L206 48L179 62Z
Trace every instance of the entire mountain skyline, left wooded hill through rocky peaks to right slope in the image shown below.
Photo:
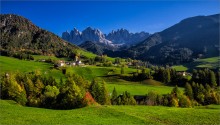
M36 26L29 19L3 14L1 51L8 54L10 48L14 48L17 51L22 49L28 53L62 57L75 52L72 49L82 47L98 55L148 60L156 64L180 64L198 57L218 56L219 16L220 14L189 17L161 32L147 34L147 38L143 39L142 34L135 35L127 30L118 30L106 36L100 30L91 27L82 32L74 29L66 35L67 39L61 39L54 33ZM129 41L132 39L133 41ZM128 41L132 43L130 46ZM78 42L79 47L74 42ZM122 43L125 46L119 45Z

